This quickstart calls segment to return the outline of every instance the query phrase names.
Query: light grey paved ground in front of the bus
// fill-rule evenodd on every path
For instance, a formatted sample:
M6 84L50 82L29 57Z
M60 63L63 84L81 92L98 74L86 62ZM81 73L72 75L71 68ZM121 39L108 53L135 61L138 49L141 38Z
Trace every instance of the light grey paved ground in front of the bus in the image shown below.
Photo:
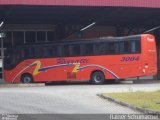
M13 114L135 114L129 108L96 96L105 92L152 91L154 84L70 84L0 88L0 113Z

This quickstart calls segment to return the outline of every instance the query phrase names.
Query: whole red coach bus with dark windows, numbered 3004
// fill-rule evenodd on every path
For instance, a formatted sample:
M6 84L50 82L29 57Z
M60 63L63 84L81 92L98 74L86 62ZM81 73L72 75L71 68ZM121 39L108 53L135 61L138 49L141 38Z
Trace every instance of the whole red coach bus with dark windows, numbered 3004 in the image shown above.
M155 37L141 34L16 46L5 55L5 81L102 84L157 73Z

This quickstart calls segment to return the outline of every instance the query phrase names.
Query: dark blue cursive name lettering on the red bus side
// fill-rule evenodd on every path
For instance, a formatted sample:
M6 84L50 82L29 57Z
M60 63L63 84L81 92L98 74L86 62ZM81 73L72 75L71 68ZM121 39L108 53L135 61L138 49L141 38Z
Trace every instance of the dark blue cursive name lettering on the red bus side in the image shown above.
M86 58L77 59L77 60L68 60L65 58L58 58L57 59L57 64L73 64L73 63L86 64L86 63L88 63L88 59L86 59Z

